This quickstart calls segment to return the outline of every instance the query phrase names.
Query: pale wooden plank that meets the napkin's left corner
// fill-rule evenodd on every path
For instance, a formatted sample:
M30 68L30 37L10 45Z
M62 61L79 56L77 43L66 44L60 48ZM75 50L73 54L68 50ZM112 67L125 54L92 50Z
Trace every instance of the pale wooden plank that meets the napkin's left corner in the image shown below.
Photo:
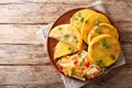
M0 44L41 44L36 37L43 24L0 24Z

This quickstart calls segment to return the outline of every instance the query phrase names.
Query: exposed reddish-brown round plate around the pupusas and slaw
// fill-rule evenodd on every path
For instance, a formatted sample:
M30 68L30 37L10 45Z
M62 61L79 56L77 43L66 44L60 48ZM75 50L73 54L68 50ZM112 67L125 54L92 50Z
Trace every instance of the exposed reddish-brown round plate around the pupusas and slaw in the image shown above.
M52 25L50 32L52 31L53 28L55 28L55 26L57 26L57 25L61 25L61 24L69 24L69 23L70 23L70 18L73 16L73 14L74 14L75 12L79 11L79 10L82 10L82 9L92 9L92 8L78 8L78 9L74 9L74 10L67 11L66 13L64 13L62 16L59 16L59 18L54 22L54 24ZM95 11L97 11L97 12L99 12L99 13L102 13L102 12L96 10L96 9L92 9L92 10L95 10ZM102 14L105 14L105 13L102 13ZM106 14L105 14L105 15L106 15ZM106 15L106 16L109 19L108 15ZM109 20L110 20L110 19L109 19ZM111 24L114 26L114 24L112 23L111 20L110 20L110 22L111 22ZM55 68L58 70L58 68L57 68L57 66L56 66L56 61L54 61L54 47L55 47L55 45L57 44L57 41L54 40L54 38L52 38L52 37L48 37L50 32L48 32L48 34L47 34L47 53L48 53L50 59L52 61L53 65L54 65ZM113 65L110 66L110 67L108 68L108 70L107 70L103 75L100 75L100 76L97 77L97 78L103 77L103 76L105 76L106 74L108 74L112 68L114 68ZM58 70L58 72L59 72L59 70ZM62 72L59 72L59 73L62 73ZM62 74L64 75L64 73L62 73ZM69 77L69 76L66 76L66 77ZM74 77L69 77L69 78L77 79L77 78L74 78ZM94 78L94 79L97 79L97 78ZM77 79L77 80L80 80L80 79ZM87 80L86 80L86 81L87 81Z

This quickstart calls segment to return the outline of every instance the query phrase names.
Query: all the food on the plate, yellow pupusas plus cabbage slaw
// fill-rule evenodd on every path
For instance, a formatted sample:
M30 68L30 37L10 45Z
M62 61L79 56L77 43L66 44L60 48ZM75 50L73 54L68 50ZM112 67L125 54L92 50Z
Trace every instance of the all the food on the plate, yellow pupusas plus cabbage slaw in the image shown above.
M105 14L91 9L77 11L70 24L55 26L50 36L58 41L54 48L58 69L81 80L99 76L120 54L117 29Z

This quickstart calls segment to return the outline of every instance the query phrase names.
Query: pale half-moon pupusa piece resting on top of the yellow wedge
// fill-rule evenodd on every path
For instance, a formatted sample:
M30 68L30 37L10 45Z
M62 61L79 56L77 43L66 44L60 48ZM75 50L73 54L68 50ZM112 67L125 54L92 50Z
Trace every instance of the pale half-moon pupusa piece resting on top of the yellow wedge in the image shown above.
M82 40L79 31L70 24L62 24L55 26L51 31L50 37L67 43L78 50L80 50L82 45Z

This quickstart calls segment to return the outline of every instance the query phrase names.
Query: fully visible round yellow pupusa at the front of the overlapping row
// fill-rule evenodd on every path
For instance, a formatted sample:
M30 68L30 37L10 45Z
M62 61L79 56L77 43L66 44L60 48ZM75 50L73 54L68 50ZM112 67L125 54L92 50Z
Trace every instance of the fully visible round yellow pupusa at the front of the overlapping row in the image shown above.
M120 55L120 43L109 34L96 36L88 47L89 59L96 64L110 66L116 63Z

